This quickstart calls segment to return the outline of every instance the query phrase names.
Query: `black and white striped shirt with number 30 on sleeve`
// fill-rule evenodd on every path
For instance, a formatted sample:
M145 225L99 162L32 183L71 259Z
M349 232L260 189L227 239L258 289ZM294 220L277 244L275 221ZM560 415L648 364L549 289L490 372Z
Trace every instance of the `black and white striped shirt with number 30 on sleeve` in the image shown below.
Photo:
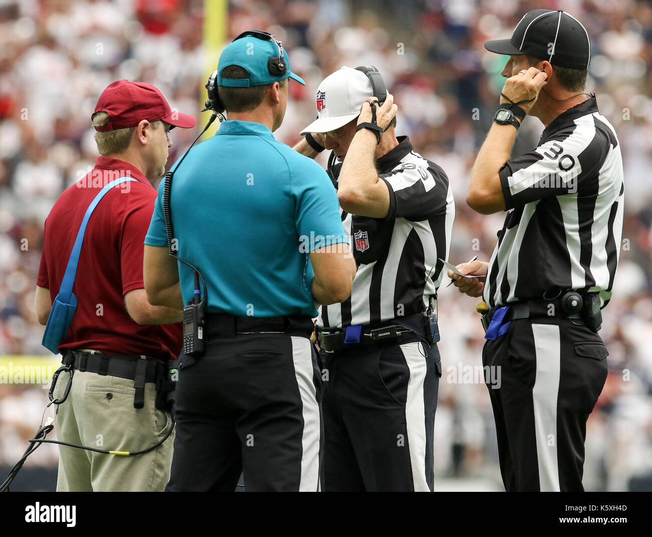
M539 146L499 171L507 217L489 262L492 306L555 298L559 290L612 296L623 228L623 161L595 97L563 112Z

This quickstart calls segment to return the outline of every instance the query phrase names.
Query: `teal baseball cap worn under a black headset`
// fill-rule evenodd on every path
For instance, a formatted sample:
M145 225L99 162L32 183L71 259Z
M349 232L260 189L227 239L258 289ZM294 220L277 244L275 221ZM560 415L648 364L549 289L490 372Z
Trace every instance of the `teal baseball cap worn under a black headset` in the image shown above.
M229 65L242 67L249 73L249 78L224 78L222 70ZM271 33L259 30L236 37L222 51L217 67L217 85L228 87L271 84L288 77L306 85L303 78L291 71L283 44Z

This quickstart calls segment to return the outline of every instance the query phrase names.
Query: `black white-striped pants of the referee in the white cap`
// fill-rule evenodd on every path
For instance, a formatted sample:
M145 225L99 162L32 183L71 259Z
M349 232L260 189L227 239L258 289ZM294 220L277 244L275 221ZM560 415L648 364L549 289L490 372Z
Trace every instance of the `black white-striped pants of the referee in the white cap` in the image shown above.
M324 491L432 491L441 360L422 341L319 353Z

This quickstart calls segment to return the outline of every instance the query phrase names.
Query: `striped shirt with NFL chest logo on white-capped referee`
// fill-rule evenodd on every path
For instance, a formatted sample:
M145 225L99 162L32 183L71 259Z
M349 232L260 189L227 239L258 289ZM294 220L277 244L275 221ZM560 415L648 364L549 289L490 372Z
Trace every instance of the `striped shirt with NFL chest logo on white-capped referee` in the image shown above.
M319 309L319 326L369 324L421 313L436 295L451 244L455 206L449 179L437 164L415 153L407 136L376 161L389 189L384 219L340 208L357 264L346 301ZM336 179L342 165L333 166Z

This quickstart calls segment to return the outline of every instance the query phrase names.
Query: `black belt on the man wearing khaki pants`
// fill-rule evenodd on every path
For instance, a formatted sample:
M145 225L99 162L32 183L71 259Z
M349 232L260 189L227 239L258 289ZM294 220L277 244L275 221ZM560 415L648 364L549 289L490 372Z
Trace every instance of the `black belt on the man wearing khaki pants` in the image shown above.
M164 387L162 383L167 377L166 365L161 360L149 356L65 350L61 363L72 366L76 371L133 380L134 408L143 408L145 405L146 382L155 382L158 390ZM168 391L173 391L173 388Z

